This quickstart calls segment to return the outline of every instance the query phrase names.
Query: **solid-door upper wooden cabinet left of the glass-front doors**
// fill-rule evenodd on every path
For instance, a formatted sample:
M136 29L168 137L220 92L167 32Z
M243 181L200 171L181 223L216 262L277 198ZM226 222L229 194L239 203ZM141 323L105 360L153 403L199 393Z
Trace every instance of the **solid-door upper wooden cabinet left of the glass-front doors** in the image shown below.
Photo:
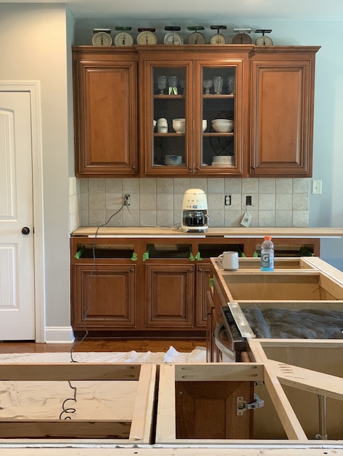
M74 51L77 177L137 174L137 55Z

